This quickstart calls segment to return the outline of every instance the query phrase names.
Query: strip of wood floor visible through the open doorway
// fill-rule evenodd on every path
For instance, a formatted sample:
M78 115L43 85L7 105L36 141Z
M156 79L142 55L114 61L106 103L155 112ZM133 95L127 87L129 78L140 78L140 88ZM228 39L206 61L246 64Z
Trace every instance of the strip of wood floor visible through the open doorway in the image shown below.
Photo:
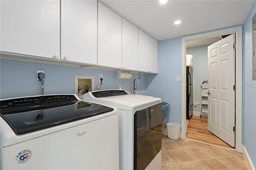
M188 122L186 138L232 148L226 142L208 131L207 117L192 116Z

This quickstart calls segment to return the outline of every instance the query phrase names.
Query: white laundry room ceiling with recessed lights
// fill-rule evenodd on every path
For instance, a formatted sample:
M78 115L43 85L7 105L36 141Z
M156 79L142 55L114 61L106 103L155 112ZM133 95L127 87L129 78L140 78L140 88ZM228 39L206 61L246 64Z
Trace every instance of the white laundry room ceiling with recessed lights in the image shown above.
M254 1L101 0L158 41L244 24ZM174 25L176 20L181 24Z

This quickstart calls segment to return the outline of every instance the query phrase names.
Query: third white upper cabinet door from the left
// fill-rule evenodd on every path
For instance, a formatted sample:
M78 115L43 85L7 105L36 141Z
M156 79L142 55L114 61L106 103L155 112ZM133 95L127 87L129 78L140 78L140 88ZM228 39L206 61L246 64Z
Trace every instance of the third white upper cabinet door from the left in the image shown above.
M98 2L98 65L121 67L122 17Z

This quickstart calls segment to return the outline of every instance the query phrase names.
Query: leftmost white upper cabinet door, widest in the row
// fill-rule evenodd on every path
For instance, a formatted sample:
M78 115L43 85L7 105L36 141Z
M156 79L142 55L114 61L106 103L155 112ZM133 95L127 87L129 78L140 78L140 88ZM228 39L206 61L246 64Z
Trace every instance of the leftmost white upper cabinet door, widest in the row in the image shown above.
M60 56L59 0L1 0L1 51Z

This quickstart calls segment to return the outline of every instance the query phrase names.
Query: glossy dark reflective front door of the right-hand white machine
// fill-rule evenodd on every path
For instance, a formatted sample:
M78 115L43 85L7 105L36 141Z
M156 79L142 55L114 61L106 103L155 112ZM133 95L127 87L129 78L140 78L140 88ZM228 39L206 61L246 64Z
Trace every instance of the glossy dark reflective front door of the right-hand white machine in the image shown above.
M162 125L162 103L134 114L134 170L145 169L162 148L162 133L151 130L150 119L159 119Z

